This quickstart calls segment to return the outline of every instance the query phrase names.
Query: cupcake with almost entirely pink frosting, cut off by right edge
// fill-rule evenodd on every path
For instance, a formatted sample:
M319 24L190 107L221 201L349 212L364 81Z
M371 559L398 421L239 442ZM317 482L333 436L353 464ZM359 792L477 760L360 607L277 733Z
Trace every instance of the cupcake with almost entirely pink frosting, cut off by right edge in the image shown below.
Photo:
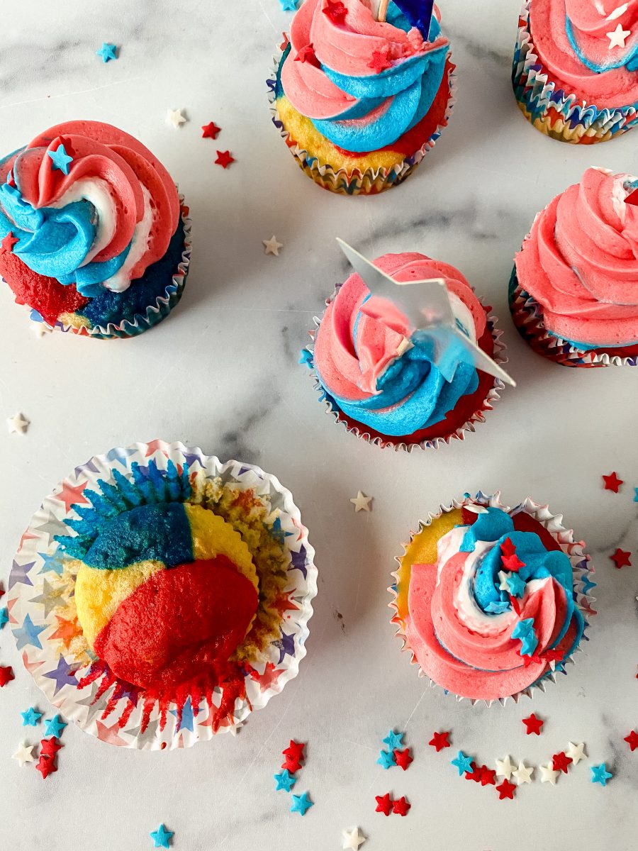
M516 328L555 363L638 363L638 178L588 168L539 213L510 280Z

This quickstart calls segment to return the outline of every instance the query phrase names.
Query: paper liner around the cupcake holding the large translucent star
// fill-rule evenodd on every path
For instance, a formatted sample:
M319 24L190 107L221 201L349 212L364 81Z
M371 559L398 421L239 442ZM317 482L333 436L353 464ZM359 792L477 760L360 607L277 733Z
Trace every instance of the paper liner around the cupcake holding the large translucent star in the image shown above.
M338 283L336 288L334 289L333 294L329 299L326 300L326 306L328 306L339 293L339 289L343 286L343 283ZM474 291L474 288L472 288ZM479 297L479 301L481 302L481 306L483 305L483 300ZM325 311L324 311L325 316ZM501 340L503 336L503 332L496 327L498 323L498 318L493 316L490 313L487 313L487 328L489 329L490 334L492 334L492 339L494 343L494 351L493 351L493 360L496 363L503 365L508 362L506 347ZM323 317L322 317L323 318ZM315 323L315 328L311 329L309 334L312 340L315 340L316 330L319 328L319 325L322 323L322 318L313 317L313 322ZM317 393L319 394L319 401L325 404L326 414L332 416L335 420L335 423L339 424L339 426L344 426L345 431L350 432L355 437L359 437L367 443L372 444L373 446L379 446L382 449L394 449L395 451L404 450L406 452L412 452L414 448L421 449L437 449L441 446L441 444L447 445L451 443L453 440L464 440L466 434L476 431L476 423L485 422L485 414L487 411L491 411L493 406L500 399L500 391L504 390L504 383L498 378L493 379L493 385L490 387L489 391L487 391L486 397L482 400L480 407L469 416L467 420L465 420L462 426L457 426L453 431L449 434L442 437L428 437L424 440L420 440L417 442L407 443L406 437L391 437L390 435L380 434L378 431L374 431L373 429L368 428L363 423L357 422L356 420L352 420L348 417L344 412L339 408L338 403L335 402L333 397L330 396L328 391L324 389L321 381L319 380L319 376L316 374L313 355L314 351L311 346L307 346L304 351L308 352L308 355L305 356L304 360L310 368L310 377L313 380L313 386Z

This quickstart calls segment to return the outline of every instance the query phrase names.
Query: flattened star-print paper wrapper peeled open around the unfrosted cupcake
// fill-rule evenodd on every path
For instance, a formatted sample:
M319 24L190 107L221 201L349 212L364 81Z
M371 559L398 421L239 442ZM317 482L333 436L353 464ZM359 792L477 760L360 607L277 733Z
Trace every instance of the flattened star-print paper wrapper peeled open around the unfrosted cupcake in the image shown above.
M104 682L100 680L79 688L78 683L90 670L94 654L89 650L78 651L72 643L67 647L60 641L63 624L56 615L68 605L75 581L64 570L66 556L54 536L73 534L66 521L77 518L71 505L81 500L85 488L100 491L98 480L114 483L114 472L130 481L135 463L148 470L152 461L160 471L166 471L169 460L189 475L197 472L198 477L207 480L219 477L225 486L253 489L276 512L281 522L282 546L290 556L284 591L287 608L279 625L281 636L265 648L259 660L251 660L252 670L245 680L246 697L236 700L217 733L235 734L252 711L262 709L288 680L297 676L299 662L305 656L311 603L317 590L315 553L293 496L276 477L259 467L234 460L222 463L199 448L163 441L111 449L108 454L98 455L77 467L44 500L20 540L9 576L9 625L27 671L57 711L100 740L140 750L188 747L196 741L212 739L213 712L208 712L203 697L198 705L189 697L183 707L168 708L166 724L161 729L156 705L148 726L142 730L144 700L138 700L131 711L126 683L124 688L118 683L111 685L104 693L101 693ZM168 479L164 481L169 488ZM81 631L78 634L82 641ZM214 707L220 701L221 693L216 688Z

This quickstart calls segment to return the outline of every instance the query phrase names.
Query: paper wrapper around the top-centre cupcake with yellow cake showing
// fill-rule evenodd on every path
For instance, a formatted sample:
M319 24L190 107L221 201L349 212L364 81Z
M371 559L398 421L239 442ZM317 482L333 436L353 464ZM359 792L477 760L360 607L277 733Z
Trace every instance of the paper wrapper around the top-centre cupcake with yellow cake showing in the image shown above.
M318 186L321 186L322 189L327 189L339 195L378 195L379 192L390 189L392 186L398 186L413 173L425 154L435 146L436 140L438 140L447 123L449 123L456 98L456 75L454 73L455 66L453 65L450 67L447 75L450 90L445 118L437 126L436 131L430 136L430 139L426 140L419 147L418 151L414 151L411 157L405 157L402 162L396 163L392 168L367 168L363 172L358 168L348 171L347 168L333 168L329 163L320 163L316 157L305 151L303 147L299 146L290 137L277 111L276 78L284 50L287 46L288 40L282 44L282 49L279 50L278 54L273 56L271 76L266 80L272 123L279 130L282 139L286 142L288 150L292 153L299 168L311 180L314 180Z

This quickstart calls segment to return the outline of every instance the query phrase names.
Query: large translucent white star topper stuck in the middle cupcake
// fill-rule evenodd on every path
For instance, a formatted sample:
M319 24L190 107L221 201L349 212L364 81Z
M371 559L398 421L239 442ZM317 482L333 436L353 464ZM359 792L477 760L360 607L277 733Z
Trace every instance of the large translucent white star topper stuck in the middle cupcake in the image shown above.
M460 328L442 277L424 281L395 281L343 239L338 238L337 242L370 292L398 307L410 323L413 334L424 332L434 342L433 362L447 381L453 380L457 363L463 360L516 387L516 381ZM362 306L362 312L366 312L365 305ZM456 345L452 346L453 343Z

